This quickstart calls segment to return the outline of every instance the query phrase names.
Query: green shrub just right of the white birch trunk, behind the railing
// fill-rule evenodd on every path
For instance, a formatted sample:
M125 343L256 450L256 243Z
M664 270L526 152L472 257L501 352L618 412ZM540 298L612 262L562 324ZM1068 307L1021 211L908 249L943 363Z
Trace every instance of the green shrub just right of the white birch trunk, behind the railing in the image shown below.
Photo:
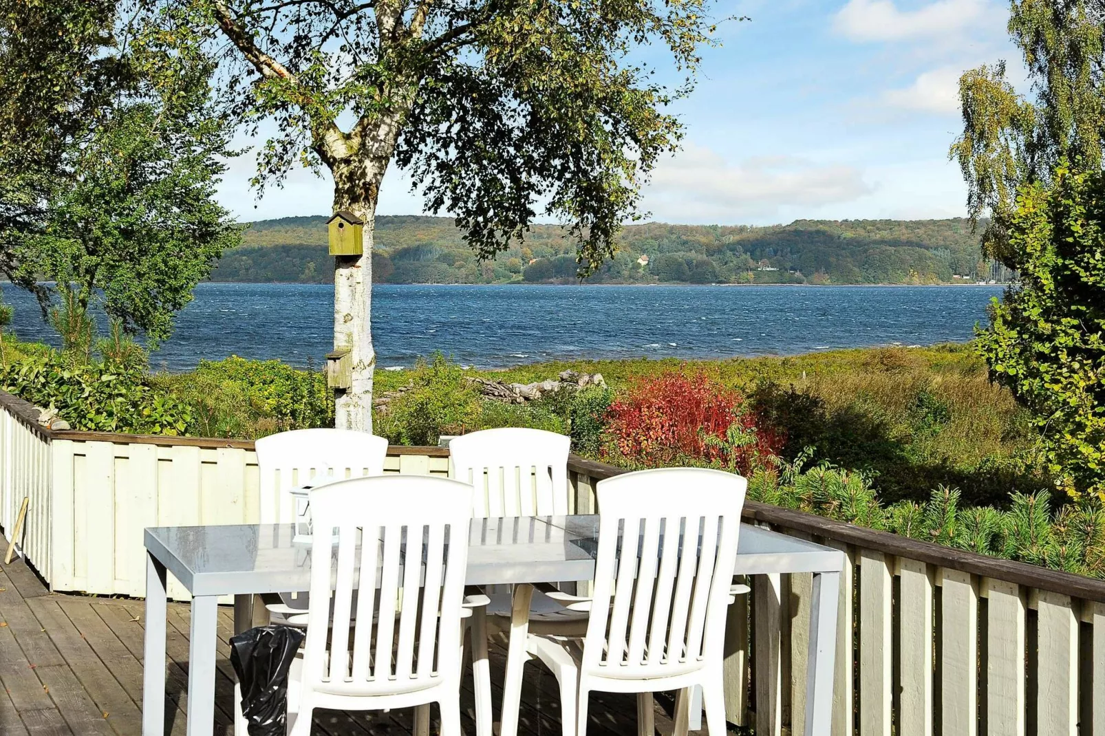
M403 392L377 413L377 434L393 444L438 444L442 434L480 427L480 397L455 362L438 353L406 372L409 383Z

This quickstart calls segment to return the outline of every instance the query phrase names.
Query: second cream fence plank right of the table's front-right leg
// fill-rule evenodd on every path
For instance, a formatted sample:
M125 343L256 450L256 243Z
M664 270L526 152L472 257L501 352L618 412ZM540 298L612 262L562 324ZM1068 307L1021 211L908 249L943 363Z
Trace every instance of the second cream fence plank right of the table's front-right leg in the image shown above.
M933 572L925 562L898 560L898 734L933 736Z

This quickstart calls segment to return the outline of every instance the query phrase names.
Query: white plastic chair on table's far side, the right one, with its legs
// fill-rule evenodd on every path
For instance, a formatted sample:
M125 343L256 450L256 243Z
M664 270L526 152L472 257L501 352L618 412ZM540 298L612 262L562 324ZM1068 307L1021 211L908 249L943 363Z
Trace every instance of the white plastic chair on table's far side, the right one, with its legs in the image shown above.
M544 430L503 428L471 432L449 442L450 475L475 487L475 517L564 515L569 509L570 450L571 438ZM487 593L486 609L474 610L472 617L473 671L487 666L487 622L496 630L511 630L512 591L508 587L492 587ZM529 601L528 618L535 625L548 620L560 622L567 614L564 604L544 591L525 587L523 596ZM491 619L486 618L488 614ZM580 618L570 616L575 620ZM504 735L517 730L522 669L529 656L525 644L525 637L517 635L511 637L507 645L499 732ZM511 686L515 680L518 687ZM481 692L477 686L475 701L478 722L478 714L491 713L491 688ZM478 736L491 736L491 730L481 730Z

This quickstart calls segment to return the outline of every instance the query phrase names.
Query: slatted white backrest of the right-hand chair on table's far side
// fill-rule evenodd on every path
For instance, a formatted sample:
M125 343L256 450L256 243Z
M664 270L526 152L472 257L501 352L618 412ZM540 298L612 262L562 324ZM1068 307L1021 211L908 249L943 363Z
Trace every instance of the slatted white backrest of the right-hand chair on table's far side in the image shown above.
M450 473L475 486L476 516L567 514L570 449L555 432L482 430L450 441Z

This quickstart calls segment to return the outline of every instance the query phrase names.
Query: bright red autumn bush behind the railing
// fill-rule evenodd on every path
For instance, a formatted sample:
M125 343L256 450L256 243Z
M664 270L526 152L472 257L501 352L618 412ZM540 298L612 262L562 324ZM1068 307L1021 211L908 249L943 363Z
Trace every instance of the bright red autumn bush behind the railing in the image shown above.
M610 404L607 451L634 465L701 462L749 474L782 446L745 397L704 374L641 379Z

